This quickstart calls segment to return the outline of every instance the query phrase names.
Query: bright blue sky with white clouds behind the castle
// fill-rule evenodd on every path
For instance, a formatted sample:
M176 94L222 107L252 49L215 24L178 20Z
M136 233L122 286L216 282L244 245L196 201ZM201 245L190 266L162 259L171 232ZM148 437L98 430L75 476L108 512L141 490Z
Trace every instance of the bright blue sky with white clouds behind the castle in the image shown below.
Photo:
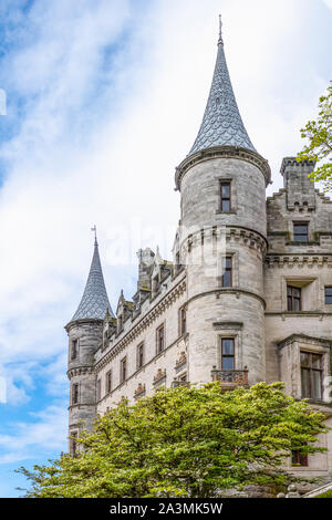
M91 228L113 310L135 293L141 247L172 258L175 167L201 122L219 13L271 195L332 76L332 0L1 0L0 497L23 495L15 468L66 450L63 327Z

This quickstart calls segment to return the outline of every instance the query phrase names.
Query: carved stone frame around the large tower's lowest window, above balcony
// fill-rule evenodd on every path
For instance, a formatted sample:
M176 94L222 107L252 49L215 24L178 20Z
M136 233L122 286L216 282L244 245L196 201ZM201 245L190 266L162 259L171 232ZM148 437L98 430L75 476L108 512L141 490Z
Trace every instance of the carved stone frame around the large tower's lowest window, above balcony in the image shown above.
M234 339L234 366L236 371L245 370L243 367L243 349L242 349L242 329L243 323L240 322L216 322L214 323L216 334L216 353L217 360L215 365L218 371L222 371L221 366L221 341L222 339Z

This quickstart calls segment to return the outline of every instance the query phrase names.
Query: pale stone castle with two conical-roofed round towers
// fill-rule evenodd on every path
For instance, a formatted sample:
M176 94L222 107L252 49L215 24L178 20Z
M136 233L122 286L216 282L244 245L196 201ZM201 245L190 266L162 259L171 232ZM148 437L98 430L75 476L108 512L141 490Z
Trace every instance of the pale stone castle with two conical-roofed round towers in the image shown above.
M83 298L65 326L69 434L91 429L123 397L219 381L225 388L282 381L332 425L332 201L313 163L283 158L283 188L266 199L268 162L255 149L234 95L220 33L212 84L194 146L176 168L180 221L173 261L138 252L137 291L108 302L95 240ZM332 476L326 453L289 466Z

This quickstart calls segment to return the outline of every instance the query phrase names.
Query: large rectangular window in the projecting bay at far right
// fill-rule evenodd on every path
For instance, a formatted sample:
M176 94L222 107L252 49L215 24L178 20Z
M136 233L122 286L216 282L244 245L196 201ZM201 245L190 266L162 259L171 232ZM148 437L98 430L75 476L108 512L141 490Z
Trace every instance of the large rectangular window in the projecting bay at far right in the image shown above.
M322 398L322 354L301 352L302 398Z

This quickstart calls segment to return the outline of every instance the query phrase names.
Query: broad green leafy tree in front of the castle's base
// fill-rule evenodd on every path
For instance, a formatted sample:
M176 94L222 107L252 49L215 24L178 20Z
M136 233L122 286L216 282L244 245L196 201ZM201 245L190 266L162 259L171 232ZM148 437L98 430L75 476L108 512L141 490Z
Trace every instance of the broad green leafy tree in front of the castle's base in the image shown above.
M292 449L303 454L325 431L324 416L282 392L282 383L220 392L160 389L122 402L79 439L76 457L18 471L31 479L27 497L216 497L246 485L287 485Z

